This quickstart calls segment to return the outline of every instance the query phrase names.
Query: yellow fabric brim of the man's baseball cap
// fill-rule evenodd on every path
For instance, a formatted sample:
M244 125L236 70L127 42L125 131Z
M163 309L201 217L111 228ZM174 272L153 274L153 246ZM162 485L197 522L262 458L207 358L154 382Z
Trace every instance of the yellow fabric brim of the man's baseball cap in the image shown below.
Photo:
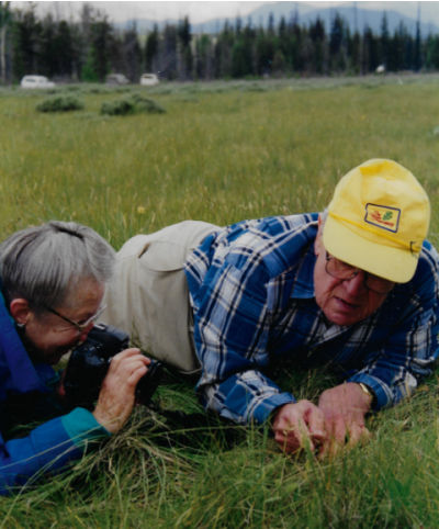
M328 216L323 229L323 244L337 259L380 278L406 283L415 274L418 255L408 249L372 243Z

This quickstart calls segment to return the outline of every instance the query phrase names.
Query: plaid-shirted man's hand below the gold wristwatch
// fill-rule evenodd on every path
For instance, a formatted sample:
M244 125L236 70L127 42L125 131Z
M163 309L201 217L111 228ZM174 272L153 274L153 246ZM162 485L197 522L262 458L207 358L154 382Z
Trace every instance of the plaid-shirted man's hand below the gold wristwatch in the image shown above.
M372 398L359 384L348 382L322 393L318 407L325 417L327 438L320 455L334 455L345 444L352 447L360 440L369 439L370 431L364 426Z

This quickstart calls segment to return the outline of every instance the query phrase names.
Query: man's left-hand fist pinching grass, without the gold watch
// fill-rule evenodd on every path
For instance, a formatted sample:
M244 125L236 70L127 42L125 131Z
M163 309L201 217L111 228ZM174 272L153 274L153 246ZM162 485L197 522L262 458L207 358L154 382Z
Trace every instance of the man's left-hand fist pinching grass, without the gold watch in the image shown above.
M284 452L295 452L306 446L315 450L324 442L325 418L309 401L284 404L273 419L274 439Z

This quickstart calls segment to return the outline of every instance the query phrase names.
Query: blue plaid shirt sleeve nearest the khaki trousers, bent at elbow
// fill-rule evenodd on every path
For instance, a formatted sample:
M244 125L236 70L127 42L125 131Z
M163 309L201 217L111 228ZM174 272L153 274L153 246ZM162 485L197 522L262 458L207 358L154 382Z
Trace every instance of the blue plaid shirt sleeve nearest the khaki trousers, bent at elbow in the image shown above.
M261 264L228 258L210 270L194 314L202 364L198 391L204 406L239 424L263 423L274 408L295 402L260 369L268 365L270 279Z

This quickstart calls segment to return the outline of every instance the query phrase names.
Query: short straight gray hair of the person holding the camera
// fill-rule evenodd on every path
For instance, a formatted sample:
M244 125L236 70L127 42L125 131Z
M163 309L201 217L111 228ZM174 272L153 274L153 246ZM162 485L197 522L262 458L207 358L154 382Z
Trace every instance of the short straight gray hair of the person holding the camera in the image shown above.
M7 301L24 297L37 312L63 306L82 280L109 282L114 262L114 249L93 229L74 222L29 227L0 245Z

